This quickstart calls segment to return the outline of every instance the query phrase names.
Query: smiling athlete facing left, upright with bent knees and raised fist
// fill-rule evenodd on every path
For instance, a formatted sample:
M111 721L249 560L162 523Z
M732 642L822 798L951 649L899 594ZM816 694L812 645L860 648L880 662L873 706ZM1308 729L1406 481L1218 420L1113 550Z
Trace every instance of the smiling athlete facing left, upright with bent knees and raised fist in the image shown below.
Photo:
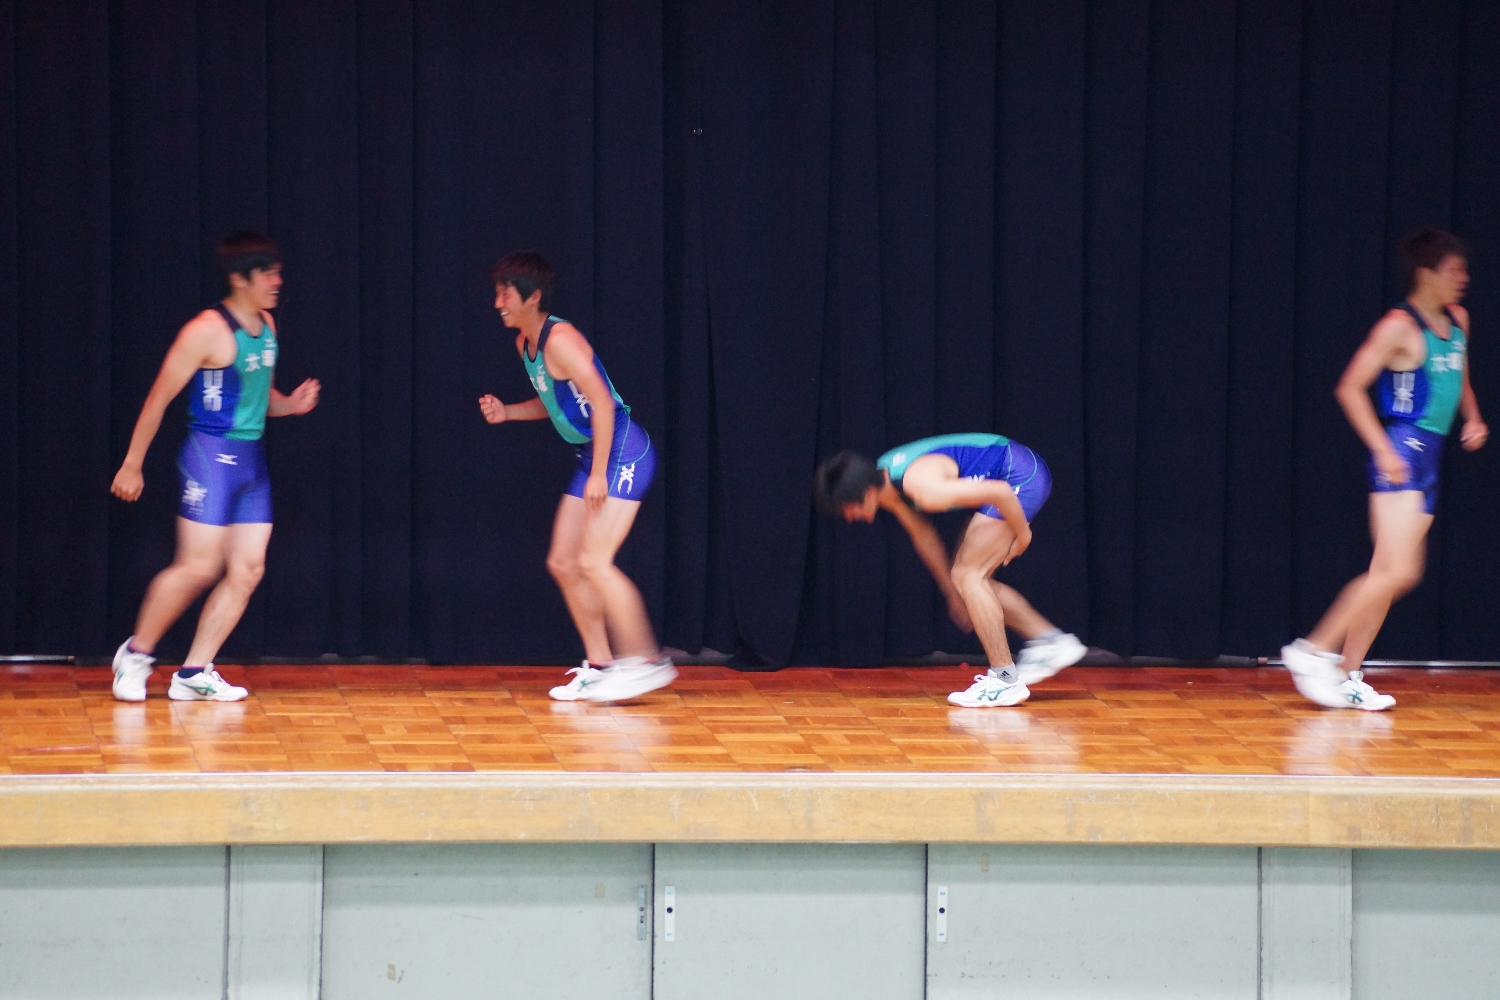
M482 396L480 412L492 424L550 420L578 447L578 469L552 523L548 570L562 589L586 660L568 672L568 684L552 688L552 697L639 697L676 676L657 646L640 591L615 565L656 475L656 450L584 334L548 312L552 267L538 253L507 253L490 277L495 309L506 327L518 330L516 351L537 397L502 403ZM604 441L609 447L598 447Z

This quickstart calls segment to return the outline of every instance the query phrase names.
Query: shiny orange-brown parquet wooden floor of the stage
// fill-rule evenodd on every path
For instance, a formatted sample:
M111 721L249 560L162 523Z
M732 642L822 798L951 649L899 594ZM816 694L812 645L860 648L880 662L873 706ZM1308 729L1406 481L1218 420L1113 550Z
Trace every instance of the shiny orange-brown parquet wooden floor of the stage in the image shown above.
M1394 712L1317 709L1280 669L1072 669L956 709L972 669L684 667L628 705L558 703L562 669L222 667L237 705L144 705L105 667L0 669L0 774L884 771L1500 777L1500 672L1372 670Z

